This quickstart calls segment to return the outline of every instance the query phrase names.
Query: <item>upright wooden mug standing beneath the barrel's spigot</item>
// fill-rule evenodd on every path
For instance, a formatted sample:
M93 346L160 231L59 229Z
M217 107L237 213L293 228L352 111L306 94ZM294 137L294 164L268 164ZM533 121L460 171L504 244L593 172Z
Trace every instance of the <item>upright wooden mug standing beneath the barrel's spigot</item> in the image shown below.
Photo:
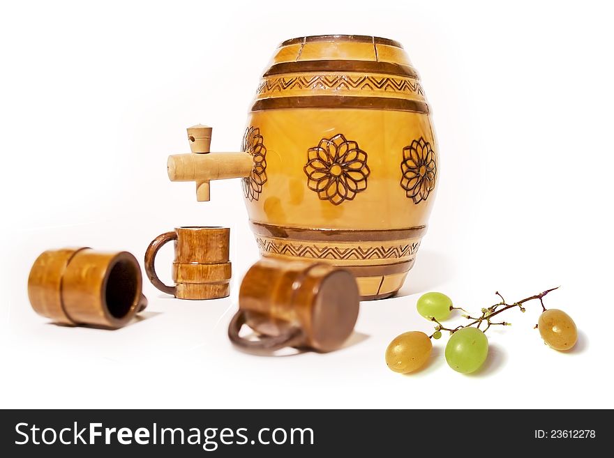
M158 278L156 254L165 243L174 241L172 265L174 286ZM217 299L230 294L232 267L229 258L230 229L189 226L154 238L145 252L145 271L154 287L178 299Z

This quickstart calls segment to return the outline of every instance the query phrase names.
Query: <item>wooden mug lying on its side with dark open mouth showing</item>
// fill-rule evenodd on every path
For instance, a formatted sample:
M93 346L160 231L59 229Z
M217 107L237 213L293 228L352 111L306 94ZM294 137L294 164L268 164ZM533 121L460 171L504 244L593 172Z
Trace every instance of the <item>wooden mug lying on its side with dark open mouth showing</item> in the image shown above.
M34 261L28 296L40 315L65 325L117 329L147 306L141 268L125 251L48 250Z

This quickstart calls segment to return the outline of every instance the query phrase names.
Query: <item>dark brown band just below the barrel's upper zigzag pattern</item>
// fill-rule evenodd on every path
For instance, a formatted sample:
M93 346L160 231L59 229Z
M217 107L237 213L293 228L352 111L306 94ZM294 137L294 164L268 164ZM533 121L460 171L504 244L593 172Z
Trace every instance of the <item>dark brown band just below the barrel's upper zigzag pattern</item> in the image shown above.
M428 114L428 105L419 100L387 97L306 96L256 100L252 112L288 108L363 108Z

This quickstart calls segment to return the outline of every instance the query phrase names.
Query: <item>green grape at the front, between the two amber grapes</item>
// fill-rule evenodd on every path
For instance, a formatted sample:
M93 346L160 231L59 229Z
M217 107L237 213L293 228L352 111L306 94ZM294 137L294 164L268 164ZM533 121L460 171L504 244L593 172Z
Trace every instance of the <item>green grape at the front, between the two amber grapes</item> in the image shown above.
M463 328L450 336L446 345L446 361L456 372L477 371L488 356L488 338L478 328Z

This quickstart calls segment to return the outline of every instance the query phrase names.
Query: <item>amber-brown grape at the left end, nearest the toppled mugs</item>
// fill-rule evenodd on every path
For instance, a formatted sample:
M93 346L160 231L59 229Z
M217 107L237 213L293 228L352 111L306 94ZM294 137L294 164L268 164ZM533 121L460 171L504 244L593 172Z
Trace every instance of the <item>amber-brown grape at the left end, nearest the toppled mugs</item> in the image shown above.
M394 372L414 372L426 364L432 349L433 344L425 333L403 333L396 336L386 349L386 364Z

